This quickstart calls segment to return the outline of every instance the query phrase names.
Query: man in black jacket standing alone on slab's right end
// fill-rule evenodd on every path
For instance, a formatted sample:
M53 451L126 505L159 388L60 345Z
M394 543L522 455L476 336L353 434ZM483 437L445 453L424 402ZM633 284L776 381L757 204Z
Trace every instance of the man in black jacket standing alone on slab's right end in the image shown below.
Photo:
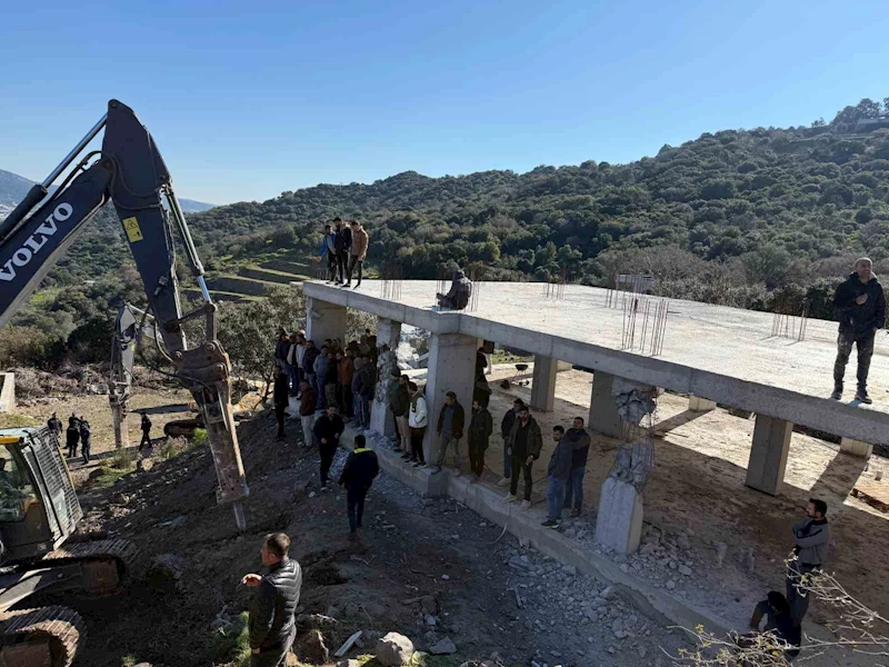
M846 364L855 344L858 348L858 390L855 399L870 404L868 370L873 356L873 338L886 323L886 295L873 275L873 263L867 257L855 262L855 273L837 288L833 307L840 322L840 335L837 340L837 360L833 364L833 394L830 398L842 398Z

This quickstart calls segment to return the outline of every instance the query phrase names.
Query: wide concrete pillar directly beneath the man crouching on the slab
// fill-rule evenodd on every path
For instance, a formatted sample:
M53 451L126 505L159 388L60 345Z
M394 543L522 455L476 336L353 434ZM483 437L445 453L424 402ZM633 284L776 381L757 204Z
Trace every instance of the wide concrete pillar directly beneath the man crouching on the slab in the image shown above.
M476 380L477 340L460 334L432 334L429 340L429 362L426 380L426 405L429 410L429 427L423 439L426 460L431 465L438 455L438 416L448 391L457 394L457 400L466 411L466 427L461 442L463 458L468 458L466 430L472 416L472 390Z

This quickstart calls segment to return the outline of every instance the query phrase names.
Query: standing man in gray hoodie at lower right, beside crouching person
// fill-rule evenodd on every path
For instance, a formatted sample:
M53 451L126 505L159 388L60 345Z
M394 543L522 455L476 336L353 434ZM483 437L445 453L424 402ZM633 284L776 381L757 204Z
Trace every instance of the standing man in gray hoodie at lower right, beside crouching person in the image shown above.
M827 561L827 549L830 544L830 527L827 524L827 502L818 498L809 499L806 508L806 520L793 526L796 559L788 564L787 601L793 623L800 625L809 610L811 593L805 585L807 575L817 574ZM800 586L803 587L800 590Z

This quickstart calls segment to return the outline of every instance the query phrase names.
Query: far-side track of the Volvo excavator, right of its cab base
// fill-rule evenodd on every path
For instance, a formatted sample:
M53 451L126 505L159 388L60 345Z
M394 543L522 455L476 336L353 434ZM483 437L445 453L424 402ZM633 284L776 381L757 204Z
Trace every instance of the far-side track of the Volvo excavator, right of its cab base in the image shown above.
M141 576L138 547L126 539L100 539L69 542L47 554L41 563L49 566L80 561L89 573L87 591L117 593L127 579Z

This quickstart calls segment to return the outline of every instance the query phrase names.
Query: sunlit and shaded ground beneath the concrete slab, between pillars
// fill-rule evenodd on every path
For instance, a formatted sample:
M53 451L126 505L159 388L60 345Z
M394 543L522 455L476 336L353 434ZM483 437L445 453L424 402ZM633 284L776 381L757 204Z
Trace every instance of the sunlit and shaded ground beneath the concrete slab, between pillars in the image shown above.
M529 369L529 380L530 372ZM495 389L490 409L498 426L513 397L526 401L530 398L530 386L513 384L503 390L497 385L497 379L512 376L511 366L496 367L489 376ZM568 428L575 416L588 417L591 389L590 374L560 372L555 411L533 414L545 436L556 424ZM883 614L889 611L889 588L875 585L889 575L889 515L849 496L859 479L873 482L879 471L889 474L889 461L875 456L868 462L840 452L838 445L795 432L785 488L778 497L771 497L745 486L753 418L742 419L722 409L691 412L688 399L675 395L658 399L656 417L656 467L645 491L645 520L668 532L683 531L695 560L693 577L679 577L672 595L745 627L765 591L783 590L782 561L793 544L790 528L805 517L808 499L819 497L828 502L833 535L830 570L852 595ZM545 465L552 449L550 439L545 437L543 442L535 475L536 502L543 501ZM595 526L598 490L611 469L618 445L611 438L592 438L581 524ZM492 438L486 467L487 482L500 479L499 437ZM722 568L716 563L718 542L728 546ZM595 548L591 540L586 544ZM639 571L635 568L631 563L635 574L650 574L641 565ZM665 586L671 577L666 571L646 578ZM812 605L810 618L825 620L817 604Z

